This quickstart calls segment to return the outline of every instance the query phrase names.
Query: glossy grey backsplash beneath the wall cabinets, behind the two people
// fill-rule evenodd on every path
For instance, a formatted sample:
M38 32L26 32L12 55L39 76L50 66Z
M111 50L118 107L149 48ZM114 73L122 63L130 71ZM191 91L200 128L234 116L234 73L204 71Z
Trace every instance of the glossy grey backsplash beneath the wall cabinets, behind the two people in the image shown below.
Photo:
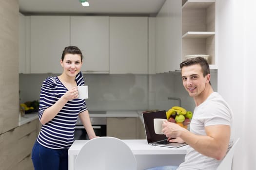
M217 91L217 73L212 72L211 83ZM43 80L58 74L20 74L20 102L39 100ZM181 99L181 106L194 110L194 100L185 91L180 73L155 75L136 74L84 74L88 85L89 110L167 110Z

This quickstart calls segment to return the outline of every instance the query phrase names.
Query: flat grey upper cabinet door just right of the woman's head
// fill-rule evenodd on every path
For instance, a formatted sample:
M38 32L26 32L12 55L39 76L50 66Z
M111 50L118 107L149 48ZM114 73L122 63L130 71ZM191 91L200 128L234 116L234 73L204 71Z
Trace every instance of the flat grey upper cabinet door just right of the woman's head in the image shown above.
M70 31L84 56L82 72L109 73L109 17L71 17Z

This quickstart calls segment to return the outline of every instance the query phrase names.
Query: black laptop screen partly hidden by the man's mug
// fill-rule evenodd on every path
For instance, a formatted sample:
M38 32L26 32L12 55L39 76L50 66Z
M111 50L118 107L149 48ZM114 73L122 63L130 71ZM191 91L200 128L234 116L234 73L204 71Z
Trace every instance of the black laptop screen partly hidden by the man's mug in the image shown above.
M166 118L166 111L154 111L154 112L148 112L143 113L143 120L145 125L145 131L148 143L157 142L160 140L164 140L167 137L165 135L158 135L154 131L154 119L155 118L161 118L161 119L167 119Z

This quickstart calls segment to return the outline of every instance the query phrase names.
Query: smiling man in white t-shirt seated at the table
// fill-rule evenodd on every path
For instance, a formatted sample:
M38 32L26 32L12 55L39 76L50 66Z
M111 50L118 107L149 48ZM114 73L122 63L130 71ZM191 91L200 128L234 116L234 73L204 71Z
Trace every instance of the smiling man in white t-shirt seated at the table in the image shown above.
M213 91L207 61L202 57L180 63L183 86L194 98L196 108L190 131L165 121L162 132L170 142L186 142L185 161L150 170L216 170L233 144L233 113L223 98ZM175 138L175 139L171 139Z

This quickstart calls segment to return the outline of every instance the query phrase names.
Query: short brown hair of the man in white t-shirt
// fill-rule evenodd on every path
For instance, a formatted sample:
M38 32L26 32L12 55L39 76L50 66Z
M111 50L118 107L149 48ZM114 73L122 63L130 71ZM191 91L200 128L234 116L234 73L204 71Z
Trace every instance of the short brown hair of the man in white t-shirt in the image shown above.
M203 57L195 57L195 58L189 58L182 63L179 64L180 69L182 69L184 66L191 66L199 64L202 68L203 76L205 77L207 74L210 74L210 67L206 59ZM211 82L209 82L211 85Z

